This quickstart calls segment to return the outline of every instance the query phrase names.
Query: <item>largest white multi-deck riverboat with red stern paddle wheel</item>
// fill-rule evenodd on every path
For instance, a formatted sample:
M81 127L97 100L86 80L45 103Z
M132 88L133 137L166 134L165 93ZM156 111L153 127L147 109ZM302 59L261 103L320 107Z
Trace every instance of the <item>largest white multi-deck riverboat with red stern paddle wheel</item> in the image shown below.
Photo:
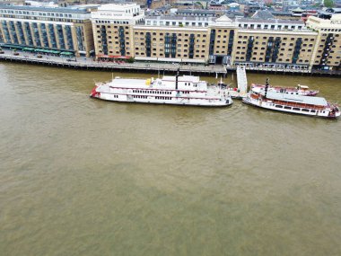
M96 83L90 95L106 101L223 107L232 104L226 88L207 86L199 76L163 76L162 79L115 77L108 83Z

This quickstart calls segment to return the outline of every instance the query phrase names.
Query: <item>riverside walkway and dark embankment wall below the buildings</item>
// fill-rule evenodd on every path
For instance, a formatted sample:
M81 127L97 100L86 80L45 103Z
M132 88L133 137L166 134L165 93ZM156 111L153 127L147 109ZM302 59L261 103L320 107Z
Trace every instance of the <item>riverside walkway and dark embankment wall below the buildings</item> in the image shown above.
M99 62L89 57L65 58L54 56L37 57L35 55L17 55L14 56L12 52L4 52L0 54L0 61L17 62L30 65L55 66L61 68L73 68L80 70L99 70L110 72L134 72L134 73L174 73L178 70L181 73L188 73L193 75L215 75L225 76L228 73L236 71L237 66L223 66L223 65L191 65L182 63L149 63L149 62L135 62L127 63L123 61L118 62ZM303 69L288 69L278 67L265 66L246 66L248 73L261 74L276 74L276 75L316 75L316 76L335 76L341 77L341 71L331 70L303 70Z

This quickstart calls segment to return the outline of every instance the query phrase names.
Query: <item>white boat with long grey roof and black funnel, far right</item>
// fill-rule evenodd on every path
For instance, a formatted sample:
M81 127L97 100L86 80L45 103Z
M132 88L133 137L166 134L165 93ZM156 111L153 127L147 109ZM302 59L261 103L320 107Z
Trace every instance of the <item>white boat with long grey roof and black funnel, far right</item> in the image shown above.
M268 91L268 81L265 90L251 90L242 102L267 110L277 110L335 119L340 116L340 109L325 98L302 96L297 94L275 93Z

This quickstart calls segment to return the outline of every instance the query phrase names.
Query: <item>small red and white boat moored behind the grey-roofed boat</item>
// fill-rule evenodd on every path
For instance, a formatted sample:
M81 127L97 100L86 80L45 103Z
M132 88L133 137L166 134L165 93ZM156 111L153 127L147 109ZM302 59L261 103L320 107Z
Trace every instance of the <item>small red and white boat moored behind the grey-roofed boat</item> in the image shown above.
M263 84L251 84L251 90L261 90L264 91L266 85ZM315 96L319 93L317 90L310 90L309 86L298 84L296 87L281 87L281 86L271 86L269 85L267 88L267 92L275 92L275 93L285 93L285 94L296 94L303 96Z

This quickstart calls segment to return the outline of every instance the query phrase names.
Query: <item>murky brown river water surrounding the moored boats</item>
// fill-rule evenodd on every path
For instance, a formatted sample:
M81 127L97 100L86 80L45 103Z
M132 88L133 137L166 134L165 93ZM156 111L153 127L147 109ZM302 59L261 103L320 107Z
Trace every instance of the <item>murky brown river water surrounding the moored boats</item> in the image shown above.
M341 119L90 99L110 77L0 63L0 255L341 255Z

